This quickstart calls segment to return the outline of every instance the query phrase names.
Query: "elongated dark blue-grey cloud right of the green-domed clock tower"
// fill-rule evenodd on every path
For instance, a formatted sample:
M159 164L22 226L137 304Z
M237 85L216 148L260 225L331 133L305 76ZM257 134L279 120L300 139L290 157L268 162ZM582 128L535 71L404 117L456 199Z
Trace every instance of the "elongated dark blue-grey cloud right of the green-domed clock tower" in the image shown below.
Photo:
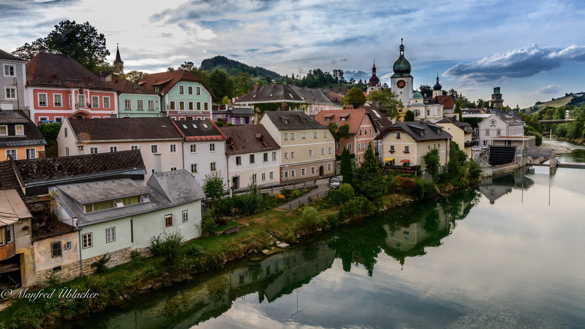
M552 71L567 61L585 61L585 46L573 45L560 49L541 48L538 44L532 44L472 63L459 63L446 70L443 75L460 77L459 83L462 84L488 84Z

